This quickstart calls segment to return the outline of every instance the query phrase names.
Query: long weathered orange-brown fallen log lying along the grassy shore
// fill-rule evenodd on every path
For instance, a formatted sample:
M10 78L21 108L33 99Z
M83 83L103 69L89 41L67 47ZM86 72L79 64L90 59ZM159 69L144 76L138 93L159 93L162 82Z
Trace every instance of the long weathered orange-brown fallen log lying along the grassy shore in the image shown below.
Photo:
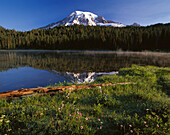
M102 83L102 84L91 84L91 85L70 85L70 86L62 86L62 87L38 87L38 88L30 88L30 89L19 89L15 91L6 91L0 93L0 98L8 98L8 99L16 99L23 96L34 95L34 94L54 94L56 92L63 93L74 90L81 89L91 89L93 87L101 87L101 86L115 86L115 85L127 85L127 84L135 84L133 82L122 82L122 83Z

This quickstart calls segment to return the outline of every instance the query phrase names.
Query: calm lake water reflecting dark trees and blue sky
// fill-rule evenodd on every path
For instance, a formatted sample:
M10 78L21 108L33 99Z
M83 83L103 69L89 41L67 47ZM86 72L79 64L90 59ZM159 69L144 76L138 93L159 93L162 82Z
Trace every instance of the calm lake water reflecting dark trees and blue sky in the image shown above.
M76 73L112 72L132 64L170 67L170 53L0 51L0 92L71 82Z

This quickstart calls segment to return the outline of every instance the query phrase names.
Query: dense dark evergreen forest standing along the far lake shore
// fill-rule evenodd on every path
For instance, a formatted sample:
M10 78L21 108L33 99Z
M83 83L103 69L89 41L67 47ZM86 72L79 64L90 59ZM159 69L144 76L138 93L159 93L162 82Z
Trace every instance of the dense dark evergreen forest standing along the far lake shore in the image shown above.
M15 31L0 27L0 49L170 50L170 23L148 27L59 26Z

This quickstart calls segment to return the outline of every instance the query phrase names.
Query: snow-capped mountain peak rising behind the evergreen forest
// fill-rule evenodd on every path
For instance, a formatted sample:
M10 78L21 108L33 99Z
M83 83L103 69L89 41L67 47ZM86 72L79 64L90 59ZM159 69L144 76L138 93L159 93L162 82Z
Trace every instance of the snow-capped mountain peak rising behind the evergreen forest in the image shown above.
M49 24L42 29L54 28L59 25L63 26L70 26L70 25L89 25L89 26L113 26L113 27L124 27L125 25L121 23L117 23L110 20L105 20L104 17L98 16L91 12L83 12L83 11L75 11L71 13L68 17L64 18L63 20Z

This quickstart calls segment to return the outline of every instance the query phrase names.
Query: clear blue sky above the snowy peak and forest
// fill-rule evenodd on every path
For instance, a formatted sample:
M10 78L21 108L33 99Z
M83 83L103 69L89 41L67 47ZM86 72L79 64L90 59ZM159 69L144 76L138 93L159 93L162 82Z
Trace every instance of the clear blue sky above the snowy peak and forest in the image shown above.
M170 0L0 0L0 26L31 30L57 22L76 10L125 25L170 22Z

